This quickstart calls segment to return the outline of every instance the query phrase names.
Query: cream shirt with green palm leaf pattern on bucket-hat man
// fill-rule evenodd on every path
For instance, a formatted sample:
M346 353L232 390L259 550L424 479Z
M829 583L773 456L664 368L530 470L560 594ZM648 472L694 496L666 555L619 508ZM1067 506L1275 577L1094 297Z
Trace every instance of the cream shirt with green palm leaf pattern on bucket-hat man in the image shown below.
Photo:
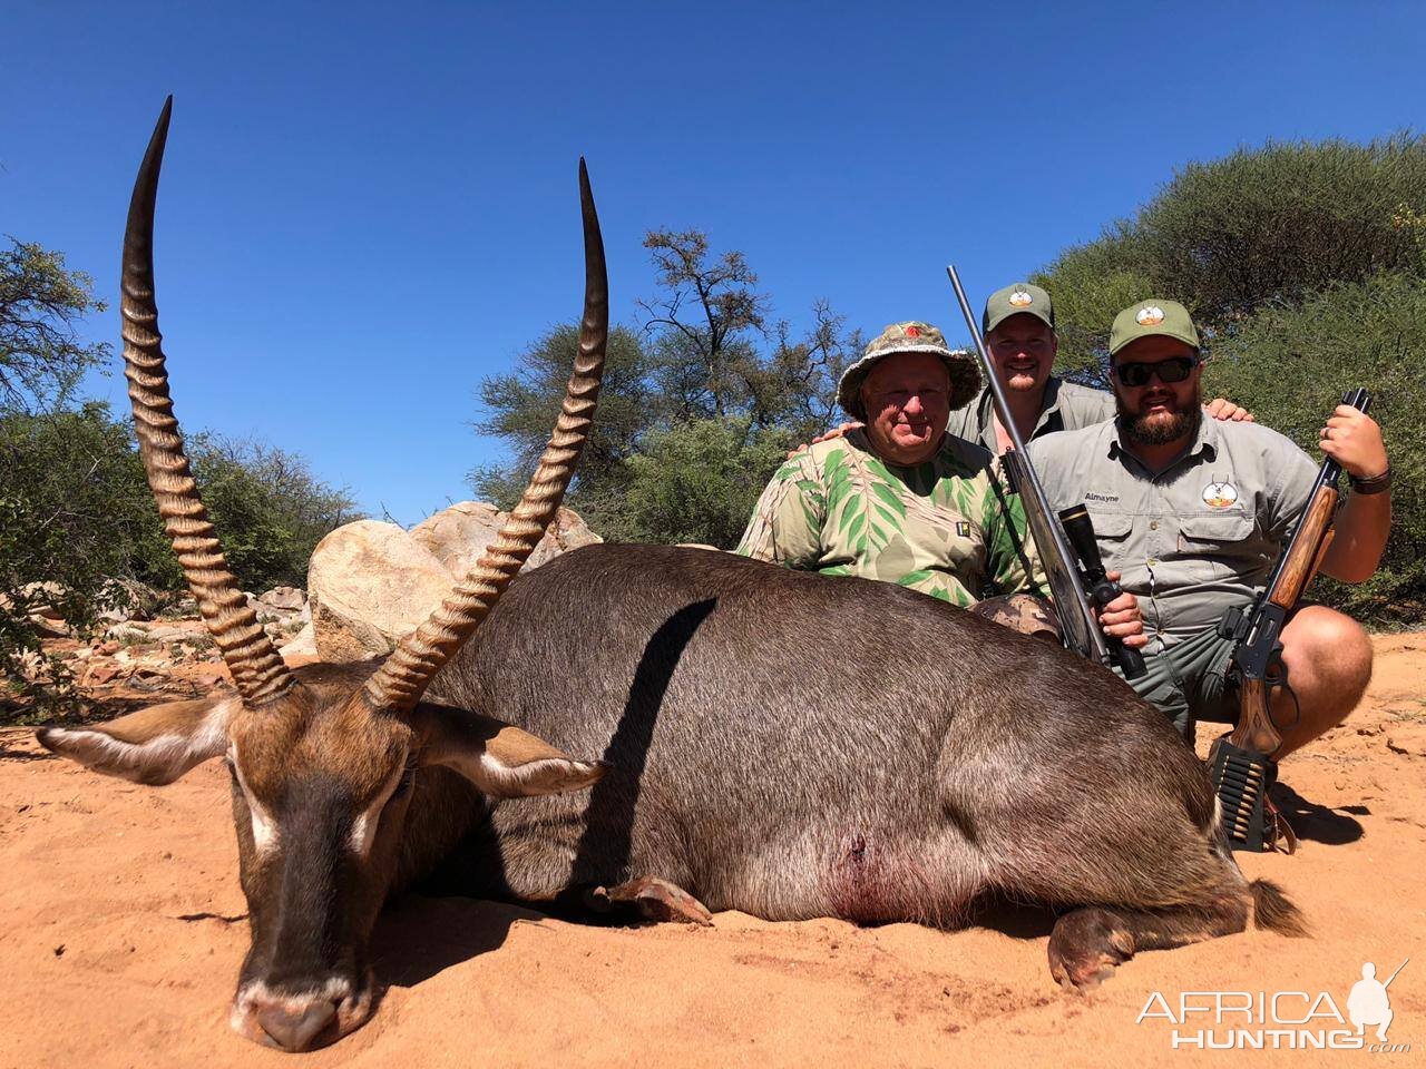
M963 607L1041 593L1020 495L991 453L947 435L915 468L876 455L866 432L790 458L763 490L736 553L824 576L861 576Z

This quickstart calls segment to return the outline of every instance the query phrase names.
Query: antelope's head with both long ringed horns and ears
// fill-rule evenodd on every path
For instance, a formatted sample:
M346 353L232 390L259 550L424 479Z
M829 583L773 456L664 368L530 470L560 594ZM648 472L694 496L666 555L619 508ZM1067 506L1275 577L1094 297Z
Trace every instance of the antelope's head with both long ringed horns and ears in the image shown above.
M178 701L40 743L108 775L167 784L222 758L232 780L251 948L231 1023L285 1050L332 1042L372 1012L371 931L398 867L412 784L445 765L492 797L588 787L603 773L519 728L422 701L553 519L589 433L609 294L585 164L585 315L549 446L495 543L384 661L289 670L228 572L198 497L168 393L154 299L153 224L173 98L134 182L124 234L123 332L140 453L165 532L237 694Z

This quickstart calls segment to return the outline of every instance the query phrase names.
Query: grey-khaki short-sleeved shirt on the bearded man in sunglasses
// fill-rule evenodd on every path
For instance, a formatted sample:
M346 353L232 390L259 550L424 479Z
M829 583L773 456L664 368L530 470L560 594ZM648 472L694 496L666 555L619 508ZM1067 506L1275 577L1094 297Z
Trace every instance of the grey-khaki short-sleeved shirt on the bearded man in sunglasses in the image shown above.
M1025 450L1057 512L1088 507L1104 566L1139 599L1149 653L1216 627L1266 584L1318 476L1276 430L1206 413L1162 472L1124 448L1115 420Z

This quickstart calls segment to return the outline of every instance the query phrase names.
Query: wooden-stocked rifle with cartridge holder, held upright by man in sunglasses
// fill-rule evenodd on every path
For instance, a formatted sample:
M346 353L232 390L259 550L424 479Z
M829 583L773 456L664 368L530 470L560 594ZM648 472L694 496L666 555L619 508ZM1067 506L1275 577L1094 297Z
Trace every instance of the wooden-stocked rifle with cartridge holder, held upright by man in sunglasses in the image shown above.
M1366 412L1372 398L1365 389L1353 389L1342 398L1342 403ZM1268 788L1278 778L1272 755L1282 745L1268 700L1272 690L1288 687L1288 666L1282 663L1279 636L1288 613L1298 604L1332 544L1340 476L1342 466L1336 460L1329 456L1322 462L1308 507L1278 557L1266 589L1246 611L1233 606L1218 624L1222 637L1236 641L1228 671L1238 683L1239 713L1238 725L1209 750L1208 770L1222 807L1228 845L1233 849L1272 849L1278 834L1286 840L1286 852L1298 848L1298 838L1286 821L1273 820L1269 827L1266 815Z

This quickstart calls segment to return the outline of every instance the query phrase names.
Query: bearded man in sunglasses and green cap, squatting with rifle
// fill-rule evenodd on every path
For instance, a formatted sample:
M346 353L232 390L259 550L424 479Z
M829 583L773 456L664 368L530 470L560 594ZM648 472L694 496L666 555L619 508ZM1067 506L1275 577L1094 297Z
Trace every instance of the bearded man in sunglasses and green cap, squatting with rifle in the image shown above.
M1144 610L1148 673L1134 688L1192 740L1198 720L1233 723L1225 686L1232 640L1224 613L1249 603L1308 503L1318 463L1256 423L1204 419L1198 331L1174 301L1141 301L1114 319L1117 419L1035 439L1027 449L1055 509L1084 502L1107 567ZM1350 477L1322 572L1370 577L1390 530L1382 430L1339 405L1319 446ZM1282 631L1288 687L1271 713L1283 755L1346 718L1372 674L1360 624L1323 606L1293 610Z

